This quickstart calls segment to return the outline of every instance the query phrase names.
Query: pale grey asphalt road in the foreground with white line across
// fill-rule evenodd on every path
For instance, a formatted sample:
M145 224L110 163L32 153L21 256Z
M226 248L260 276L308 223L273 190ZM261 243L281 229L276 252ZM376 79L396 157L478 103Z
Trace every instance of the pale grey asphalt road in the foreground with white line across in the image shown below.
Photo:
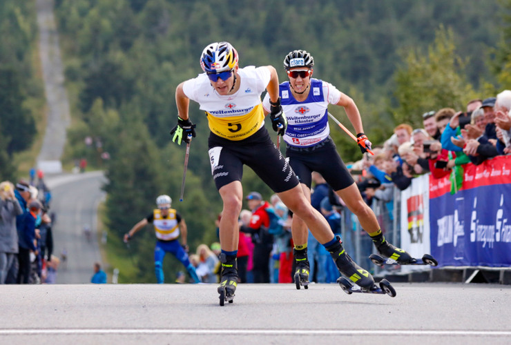
M210 284L10 285L0 344L510 344L509 286L394 287L240 284L219 306Z

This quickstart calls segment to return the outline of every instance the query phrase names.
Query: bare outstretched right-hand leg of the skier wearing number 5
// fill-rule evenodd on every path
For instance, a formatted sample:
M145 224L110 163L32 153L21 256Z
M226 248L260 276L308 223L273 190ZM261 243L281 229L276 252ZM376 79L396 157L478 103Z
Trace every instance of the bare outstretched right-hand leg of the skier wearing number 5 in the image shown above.
M278 196L289 210L293 211L294 215L297 215L305 222L307 228L311 229L311 233L320 243L325 244L334 239L334 233L331 232L327 219L311 206L301 186L278 193ZM307 235L304 238L307 239Z

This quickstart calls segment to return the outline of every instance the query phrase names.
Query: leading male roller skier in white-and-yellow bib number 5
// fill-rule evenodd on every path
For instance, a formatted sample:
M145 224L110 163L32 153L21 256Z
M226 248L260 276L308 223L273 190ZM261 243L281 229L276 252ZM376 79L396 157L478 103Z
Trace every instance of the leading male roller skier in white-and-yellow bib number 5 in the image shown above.
M273 66L238 67L238 52L230 43L211 43L200 58L204 73L180 83L175 98L177 126L171 130L173 141L181 144L187 136L195 136L195 125L189 119L189 100L200 104L206 112L209 128L211 173L222 197L220 245L222 273L218 293L220 305L224 297L232 302L238 282L236 253L238 250L238 216L242 208L242 171L246 164L276 193L286 206L303 219L314 237L333 248L338 262L349 266L348 276L357 273L357 284L370 289L374 279L365 270L351 265L351 260L322 217L307 201L289 164L271 141L264 128L261 94L267 90L269 114L273 130L283 135L287 120L280 106L278 75ZM334 248L335 247L335 248ZM358 272L358 269L361 271Z

